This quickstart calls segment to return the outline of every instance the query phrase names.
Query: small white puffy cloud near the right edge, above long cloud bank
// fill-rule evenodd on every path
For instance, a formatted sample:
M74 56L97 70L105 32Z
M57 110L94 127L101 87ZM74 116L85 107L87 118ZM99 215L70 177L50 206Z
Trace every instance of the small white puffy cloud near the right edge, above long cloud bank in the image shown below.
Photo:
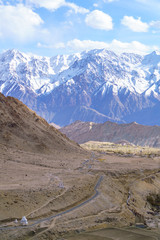
M141 21L141 18L135 19L132 16L124 16L121 23L133 32L147 32L149 25Z

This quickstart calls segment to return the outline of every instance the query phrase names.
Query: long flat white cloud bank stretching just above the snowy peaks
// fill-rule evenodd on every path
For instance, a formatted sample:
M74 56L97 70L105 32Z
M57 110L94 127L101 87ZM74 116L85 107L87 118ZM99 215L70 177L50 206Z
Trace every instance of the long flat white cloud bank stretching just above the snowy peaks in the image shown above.
M43 45L39 47L44 47ZM47 47L47 46L45 46ZM51 46L48 46L49 48ZM137 53L137 54L147 54L155 49L158 49L156 46L147 46L145 44L142 44L138 41L132 41L132 42L121 42L116 39L114 39L112 42L101 42L101 41L91 41L91 40L79 40L79 39L73 39L71 41L68 41L67 43L59 43L52 46L53 48L63 48L67 49L70 52L82 52L84 50L91 50L91 49L103 49L106 48L111 51L115 51L116 53L123 53L123 52L129 52L129 53Z

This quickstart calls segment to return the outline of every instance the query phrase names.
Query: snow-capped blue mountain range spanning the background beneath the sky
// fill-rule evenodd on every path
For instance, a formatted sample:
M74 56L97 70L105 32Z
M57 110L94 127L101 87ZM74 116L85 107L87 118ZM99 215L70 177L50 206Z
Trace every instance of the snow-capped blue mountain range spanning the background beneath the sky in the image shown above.
M0 92L58 125L160 124L160 52L101 49L49 58L8 50L0 55Z

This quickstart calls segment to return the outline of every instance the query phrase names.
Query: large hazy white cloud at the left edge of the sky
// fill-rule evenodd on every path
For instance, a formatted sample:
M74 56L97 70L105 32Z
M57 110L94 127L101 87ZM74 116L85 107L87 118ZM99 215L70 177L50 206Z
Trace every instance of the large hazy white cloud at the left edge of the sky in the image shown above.
M0 5L0 37L18 42L32 40L40 34L43 20L22 4ZM42 30L42 32L45 30Z

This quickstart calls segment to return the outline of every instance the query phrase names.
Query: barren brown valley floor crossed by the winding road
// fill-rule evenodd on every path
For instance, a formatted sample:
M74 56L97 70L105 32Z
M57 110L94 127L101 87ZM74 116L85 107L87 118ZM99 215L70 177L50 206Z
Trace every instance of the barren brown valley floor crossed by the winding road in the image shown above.
M159 157L53 157L5 146L0 154L1 240L160 239ZM28 226L19 228L22 216Z

